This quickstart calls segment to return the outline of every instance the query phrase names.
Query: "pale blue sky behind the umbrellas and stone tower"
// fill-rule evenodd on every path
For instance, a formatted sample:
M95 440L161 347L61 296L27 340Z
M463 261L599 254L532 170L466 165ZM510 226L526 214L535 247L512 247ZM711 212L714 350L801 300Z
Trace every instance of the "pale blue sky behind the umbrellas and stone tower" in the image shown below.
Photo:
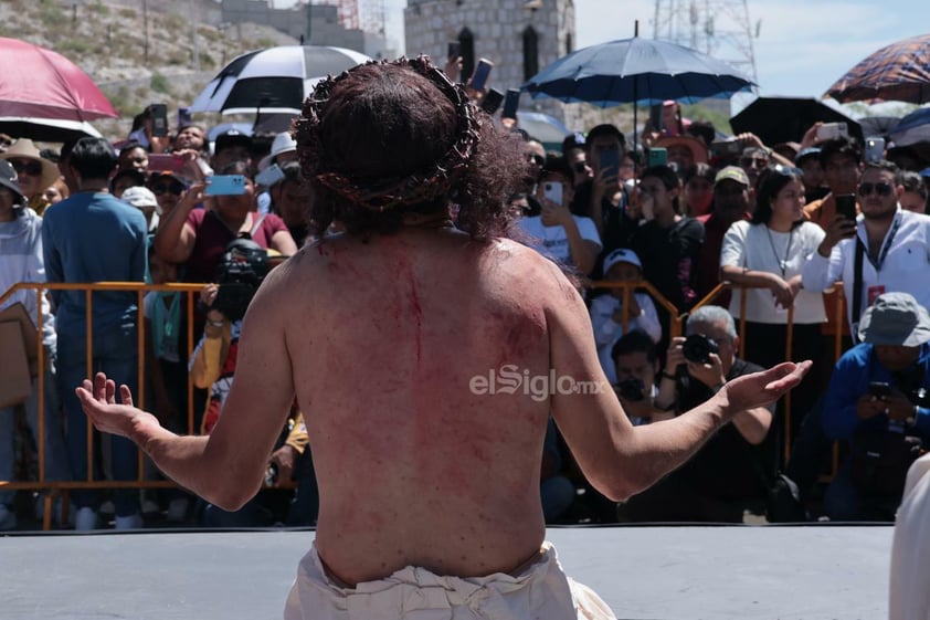
M698 6L742 10L740 1L696 1ZM660 2L662 6L673 3L687 7L690 2ZM400 38L405 6L405 0L385 0L389 36ZM752 46L759 94L765 96L820 98L871 52L900 39L930 32L927 0L748 0L747 6L749 22L753 28L759 23L759 36L752 40ZM656 7L653 0L574 0L574 7L578 49L633 36L636 20L640 35L653 36ZM728 60L727 54L728 50L721 45L712 55ZM733 102L733 113L753 97L738 98L742 101Z

